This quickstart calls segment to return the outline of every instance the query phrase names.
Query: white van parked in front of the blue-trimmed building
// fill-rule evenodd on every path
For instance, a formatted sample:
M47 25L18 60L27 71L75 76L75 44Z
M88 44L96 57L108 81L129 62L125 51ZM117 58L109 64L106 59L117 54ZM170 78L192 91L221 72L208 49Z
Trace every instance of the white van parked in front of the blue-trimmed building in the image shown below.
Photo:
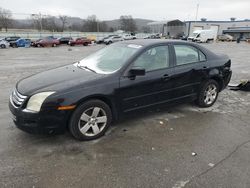
M193 35L188 37L193 42L209 42L216 39L216 33L213 30L196 30Z

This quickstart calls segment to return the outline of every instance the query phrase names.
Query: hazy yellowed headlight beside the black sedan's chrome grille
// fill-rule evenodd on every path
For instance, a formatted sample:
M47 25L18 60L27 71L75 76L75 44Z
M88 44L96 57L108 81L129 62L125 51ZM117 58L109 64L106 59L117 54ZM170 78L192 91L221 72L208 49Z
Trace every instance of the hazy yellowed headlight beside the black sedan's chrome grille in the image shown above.
M39 112L45 99L53 93L55 92L42 92L31 96L26 106L26 110Z

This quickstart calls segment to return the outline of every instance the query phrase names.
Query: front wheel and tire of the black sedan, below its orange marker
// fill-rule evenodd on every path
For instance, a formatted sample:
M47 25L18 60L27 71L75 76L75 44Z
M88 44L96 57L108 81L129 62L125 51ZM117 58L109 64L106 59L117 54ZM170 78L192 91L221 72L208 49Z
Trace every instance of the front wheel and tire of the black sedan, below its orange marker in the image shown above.
M93 140L103 136L111 122L110 107L103 101L90 100L78 106L73 112L69 130L78 140Z

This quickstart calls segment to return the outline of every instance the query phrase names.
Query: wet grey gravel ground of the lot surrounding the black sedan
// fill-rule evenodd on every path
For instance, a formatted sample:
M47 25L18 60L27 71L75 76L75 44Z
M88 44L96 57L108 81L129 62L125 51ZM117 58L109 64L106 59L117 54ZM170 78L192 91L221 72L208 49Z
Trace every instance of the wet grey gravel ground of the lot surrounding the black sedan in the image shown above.
M232 59L232 82L250 79L250 44L204 44ZM15 128L16 81L103 46L0 50L0 187L250 187L250 93L216 104L156 109L116 123L101 139L29 135ZM193 153L193 155L192 155Z

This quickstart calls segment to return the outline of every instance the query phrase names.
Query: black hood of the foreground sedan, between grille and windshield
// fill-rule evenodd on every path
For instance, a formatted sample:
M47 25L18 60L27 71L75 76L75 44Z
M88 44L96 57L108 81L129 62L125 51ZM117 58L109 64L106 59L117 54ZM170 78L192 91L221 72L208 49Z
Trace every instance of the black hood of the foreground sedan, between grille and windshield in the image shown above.
M24 78L17 83L16 87L21 94L30 96L38 92L59 92L76 86L83 87L83 84L104 76L74 65L67 65Z

